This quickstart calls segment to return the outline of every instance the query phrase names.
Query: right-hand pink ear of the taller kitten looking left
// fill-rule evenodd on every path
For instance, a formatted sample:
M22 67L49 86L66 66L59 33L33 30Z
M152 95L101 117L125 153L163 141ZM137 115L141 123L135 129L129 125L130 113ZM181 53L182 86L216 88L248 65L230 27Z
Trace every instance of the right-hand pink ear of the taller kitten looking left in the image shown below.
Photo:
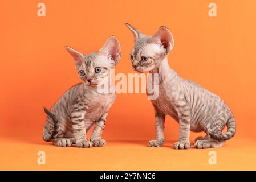
M166 52L165 54L168 55L170 51L172 51L174 46L174 40L172 33L166 27L160 27L156 34L152 37L152 39L160 39L161 44L164 46Z

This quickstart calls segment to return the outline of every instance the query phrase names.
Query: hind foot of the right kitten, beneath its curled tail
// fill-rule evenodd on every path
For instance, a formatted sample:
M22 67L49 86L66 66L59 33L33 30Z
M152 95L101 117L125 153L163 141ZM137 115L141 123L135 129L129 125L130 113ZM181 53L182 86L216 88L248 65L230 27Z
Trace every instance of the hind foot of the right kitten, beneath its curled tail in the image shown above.
M212 139L209 135L197 137L195 140L194 147L199 149L222 147L225 143L224 141Z

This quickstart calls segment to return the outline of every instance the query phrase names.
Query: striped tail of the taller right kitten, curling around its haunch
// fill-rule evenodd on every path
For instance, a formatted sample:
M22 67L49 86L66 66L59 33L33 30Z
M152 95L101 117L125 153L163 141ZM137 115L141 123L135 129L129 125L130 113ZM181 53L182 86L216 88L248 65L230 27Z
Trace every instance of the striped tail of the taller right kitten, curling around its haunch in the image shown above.
M227 132L225 134L217 133L209 133L209 135L216 140L229 140L230 138L234 137L235 132L236 132L236 125L235 125L235 119L234 117L230 118L229 121L227 121Z

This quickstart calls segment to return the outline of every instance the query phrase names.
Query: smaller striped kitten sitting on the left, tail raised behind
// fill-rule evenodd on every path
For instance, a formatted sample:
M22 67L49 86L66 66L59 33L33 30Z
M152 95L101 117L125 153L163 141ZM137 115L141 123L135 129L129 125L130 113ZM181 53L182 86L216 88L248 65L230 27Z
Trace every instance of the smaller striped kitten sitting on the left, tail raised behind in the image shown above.
M78 76L82 83L72 86L52 106L43 128L43 139L52 140L56 146L77 147L104 146L101 134L105 126L108 111L115 101L115 93L99 93L97 86L109 80L111 69L119 62L120 44L111 36L98 52L83 55L66 47L75 61ZM95 123L90 140L86 131Z

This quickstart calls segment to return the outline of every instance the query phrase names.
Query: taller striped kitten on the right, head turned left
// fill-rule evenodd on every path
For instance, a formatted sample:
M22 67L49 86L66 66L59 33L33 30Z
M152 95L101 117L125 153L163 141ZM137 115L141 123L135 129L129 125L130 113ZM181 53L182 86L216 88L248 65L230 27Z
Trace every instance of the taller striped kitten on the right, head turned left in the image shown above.
M235 134L235 119L229 107L220 97L202 88L195 82L185 80L170 69L167 55L173 48L172 33L160 27L154 36L144 35L128 23L132 31L135 47L131 52L132 67L137 72L159 74L159 97L151 100L155 108L156 139L149 146L160 147L164 144L165 115L170 115L179 125L179 140L175 149L190 148L190 130L205 131L205 137L197 137L196 148L221 147L224 140ZM222 129L227 125L226 134Z

